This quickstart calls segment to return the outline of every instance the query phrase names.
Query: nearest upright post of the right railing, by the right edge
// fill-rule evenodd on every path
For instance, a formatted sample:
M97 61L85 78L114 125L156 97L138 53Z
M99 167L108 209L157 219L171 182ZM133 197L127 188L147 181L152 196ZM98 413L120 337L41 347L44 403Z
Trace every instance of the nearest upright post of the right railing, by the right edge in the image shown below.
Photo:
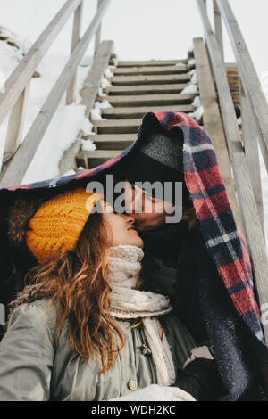
M247 96L245 94L242 81L239 78L240 90L240 105L241 105L241 119L243 143L245 146L245 154L247 160L247 168L250 173L250 180L255 194L255 202L259 212L259 218L264 234L264 207L263 207L263 193L260 175L260 160L258 152L257 136L258 132L255 127L255 120L252 117ZM265 234L264 234L265 240Z

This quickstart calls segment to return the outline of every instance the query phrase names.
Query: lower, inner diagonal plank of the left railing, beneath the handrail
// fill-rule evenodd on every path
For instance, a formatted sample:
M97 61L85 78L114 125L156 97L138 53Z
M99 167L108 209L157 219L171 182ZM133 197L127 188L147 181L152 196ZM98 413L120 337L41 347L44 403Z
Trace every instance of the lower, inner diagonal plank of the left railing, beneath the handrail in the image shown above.
M29 167L29 163L33 159L38 149L38 145L40 144L46 132L46 128L54 116L54 111L62 99L67 86L69 86L71 78L73 77L73 74L80 63L83 54L87 50L88 43L94 36L97 25L102 19L102 16L105 13L109 3L110 0L103 0L99 11L93 18L93 21L91 21L88 29L80 39L80 42L76 45L70 59L66 63L59 78L57 78L52 90L48 94L45 103L38 113L37 118L29 128L29 132L22 142L18 152L16 152L13 160L4 173L4 176L1 179L2 187L20 185L21 180L23 179L27 168Z

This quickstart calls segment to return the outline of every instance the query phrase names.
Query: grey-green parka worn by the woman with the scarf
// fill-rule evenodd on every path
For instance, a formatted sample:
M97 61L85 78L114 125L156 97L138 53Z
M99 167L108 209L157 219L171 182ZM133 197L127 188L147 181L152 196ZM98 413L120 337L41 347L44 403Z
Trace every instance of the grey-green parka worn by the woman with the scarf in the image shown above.
M55 345L56 311L47 300L15 308L0 343L0 400L108 400L156 383L155 364L142 326L118 320L127 344L112 368L98 374L95 357L82 363L68 340L65 322ZM178 374L195 346L187 329L173 314L165 315L165 333Z

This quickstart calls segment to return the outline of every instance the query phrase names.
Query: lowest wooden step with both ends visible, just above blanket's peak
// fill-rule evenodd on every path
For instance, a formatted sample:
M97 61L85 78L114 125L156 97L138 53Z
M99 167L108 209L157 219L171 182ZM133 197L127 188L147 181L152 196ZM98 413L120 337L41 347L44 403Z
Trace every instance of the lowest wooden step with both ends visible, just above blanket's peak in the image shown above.
M179 105L165 105L163 106L141 106L131 108L105 108L102 109L102 117L106 119L131 119L131 118L143 118L147 112L159 112L159 111L173 111L173 112L193 112L195 107L191 104L179 104Z

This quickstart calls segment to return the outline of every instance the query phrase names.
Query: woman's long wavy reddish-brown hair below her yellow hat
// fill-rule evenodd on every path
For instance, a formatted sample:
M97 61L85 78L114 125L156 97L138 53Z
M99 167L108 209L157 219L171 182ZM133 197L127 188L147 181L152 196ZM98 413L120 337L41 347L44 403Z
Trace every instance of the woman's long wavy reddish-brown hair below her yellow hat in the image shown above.
M96 357L101 366L99 374L113 366L125 346L125 336L110 314L108 246L103 214L96 211L88 218L73 251L61 252L29 270L24 277L29 284L10 304L8 317L23 303L43 298L54 302L56 344L68 320L71 349L82 362Z

